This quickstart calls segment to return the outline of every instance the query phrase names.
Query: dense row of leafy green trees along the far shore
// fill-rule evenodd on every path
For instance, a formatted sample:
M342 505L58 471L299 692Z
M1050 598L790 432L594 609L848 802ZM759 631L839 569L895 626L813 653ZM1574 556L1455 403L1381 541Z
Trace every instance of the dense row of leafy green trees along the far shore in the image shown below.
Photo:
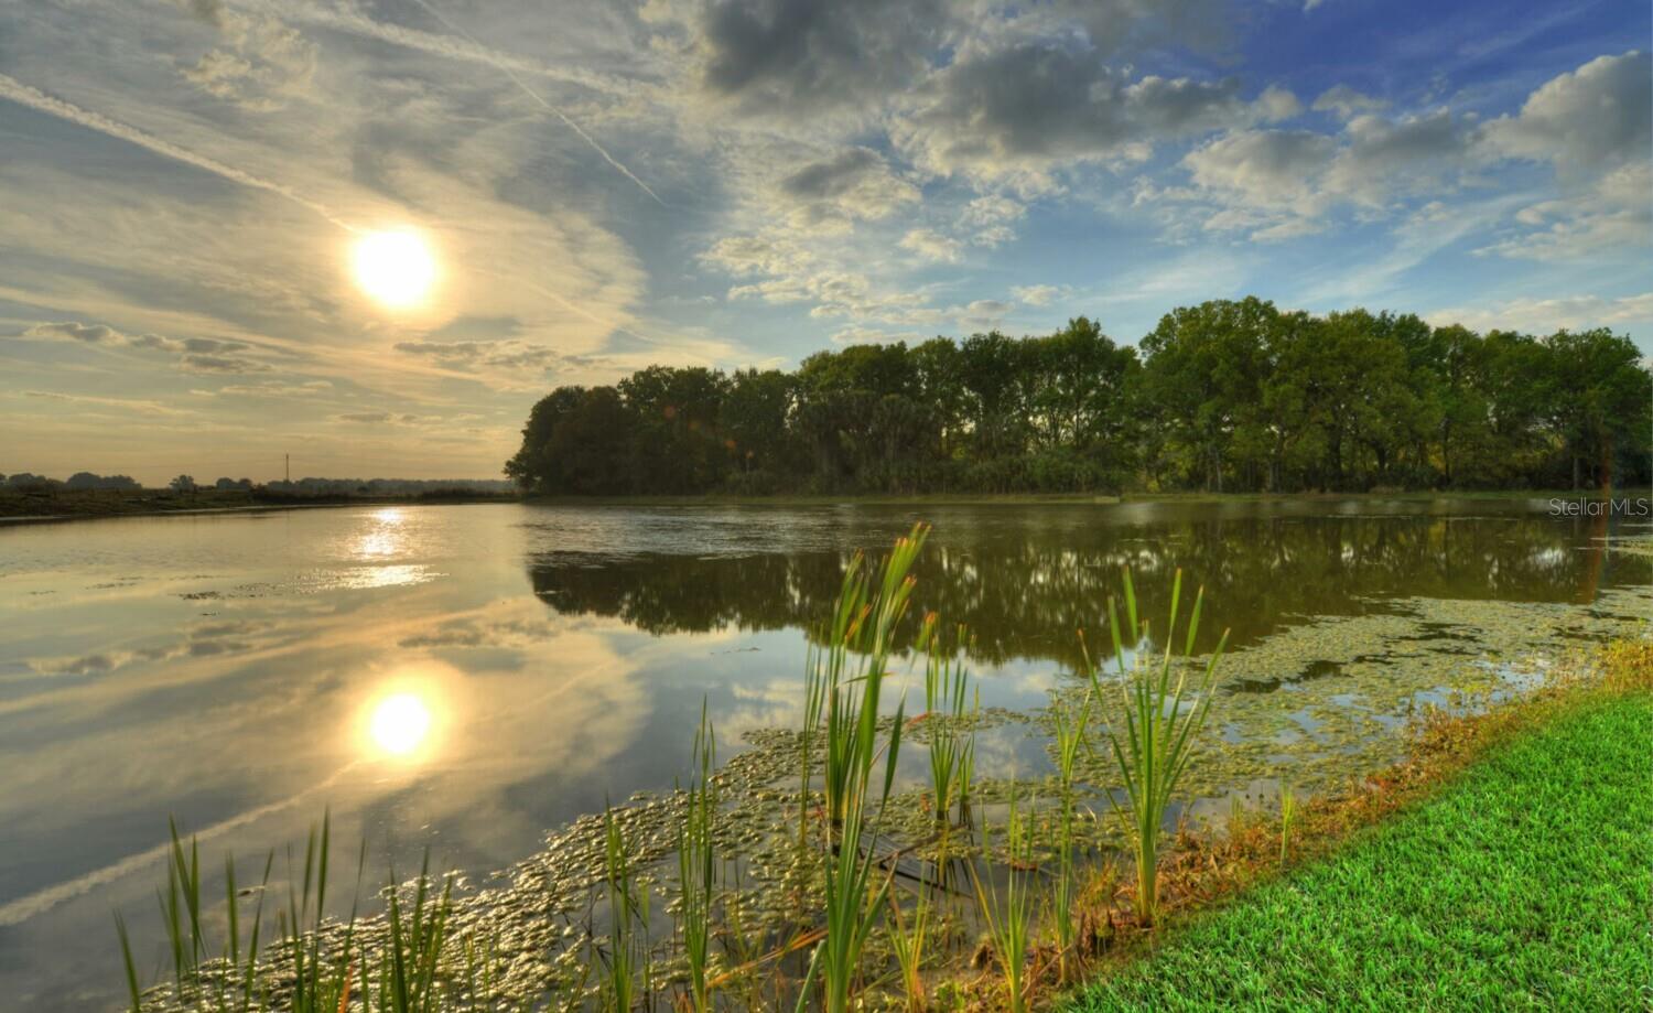
M1577 489L1653 478L1650 428L1653 372L1607 329L1246 297L1179 307L1139 347L1076 317L559 387L506 474L549 496Z

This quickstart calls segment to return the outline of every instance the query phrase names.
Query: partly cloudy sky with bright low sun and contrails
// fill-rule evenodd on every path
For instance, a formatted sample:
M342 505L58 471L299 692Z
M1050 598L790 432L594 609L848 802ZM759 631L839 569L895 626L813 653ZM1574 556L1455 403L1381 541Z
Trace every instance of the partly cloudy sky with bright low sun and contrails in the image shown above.
M1256 294L1653 349L1653 8L0 7L0 471L494 478L550 388Z

